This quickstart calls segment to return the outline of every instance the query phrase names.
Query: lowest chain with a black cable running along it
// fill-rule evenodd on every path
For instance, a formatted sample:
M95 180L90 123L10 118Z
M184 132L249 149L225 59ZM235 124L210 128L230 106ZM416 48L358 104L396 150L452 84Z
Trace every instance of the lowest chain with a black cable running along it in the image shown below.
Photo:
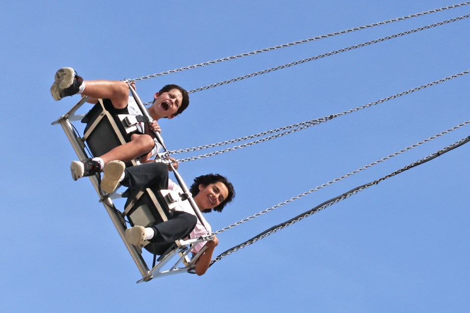
M304 212L303 214L298 215L298 216L296 216L295 218L293 218L293 219L291 219L291 220L289 220L289 221L287 221L287 222L285 222L285 223L282 223L282 224L279 224L279 225L277 225L277 226L271 227L270 229L268 229L268 230L264 231L263 233L259 234L258 236L256 236L256 237L254 237L254 238L252 238L252 239L250 239L250 240L248 240L248 241L246 241L246 242L244 242L244 243L242 243L242 244L240 244L240 245L238 245L238 246L235 246L235 247L233 247L233 248L231 248L231 249L229 249L229 250L223 252L222 254L220 254L220 255L217 256L214 260L211 261L211 265L212 265L213 263L217 262L217 261L220 261L221 259L223 259L223 258L226 257L227 255L230 255L230 254L232 254L232 253L238 251L239 249L242 249L242 248L244 248L244 247L246 247L246 246L250 246L250 245L256 243L258 240L261 240L261 239L263 239L263 238L265 238L265 237L267 237L267 236L269 236L269 235L271 235L271 234L274 234L275 232L281 230L282 228L285 228L285 227L287 227L287 226L290 226L290 225L292 225L292 224L295 224L295 223L297 223L297 222L299 222L299 221L305 219L306 217L309 217L309 216L311 216L311 215L313 215L313 214L315 214L315 213L317 213L317 212L320 212L320 211L326 209L327 207L329 207L329 206L331 206L331 205L333 205L333 204L335 204L335 203L337 203L337 202L339 202L339 201L345 200L345 199L351 197L352 195L357 194L359 191L363 191L363 190L365 190L365 189L367 189L367 188L369 188L369 187L371 187L371 186L373 186L373 185L378 184L379 182L381 182L381 181L383 181L383 180L385 180L385 179L388 179L388 178L390 178L390 177L393 177L393 176L395 176L395 175L398 175L398 174L400 174L400 173L402 173L402 172L404 172L404 171L406 171L406 170L409 170L409 169L411 169L411 168L413 168L413 167L415 167L415 166L421 165L421 164L423 164L423 163L425 163L425 162L427 162L427 161L430 161L430 160L432 160L432 159L434 159L434 158L436 158L436 157L438 157L438 156L442 156L443 154L449 152L450 150L453 150L453 149L455 149L455 148L458 148L458 147L460 147L460 146L466 144L466 143L469 142L469 141L470 141L470 136L468 136L468 137L466 137L466 138L464 138L464 139L461 139L461 140L459 140L459 141L457 141L457 142L455 142L455 143L453 143L453 144L451 144L451 145L448 145L446 148L441 149L441 150L439 150L439 151L437 151L437 152L435 152L435 153L433 153L433 154L431 154L431 155L429 155L429 156L425 156L425 157L423 157L422 159L420 159L420 160L418 160L418 161L416 161L416 162L413 162L413 163L411 163L411 164L409 164L409 165L407 165L407 166L405 166L405 167L402 167L402 168L401 168L400 170L398 170L398 171L395 171L395 172L393 172L393 173L391 173L391 174L389 174L389 175L386 175L386 176L384 176L384 177L382 177L382 178L380 178L380 179L376 179L376 180L374 180L374 181L372 181L372 182L369 182L369 183L367 183L367 184L364 184L364 185L362 185L362 186L356 187L356 188L354 188L354 189L352 189L352 190L350 190L350 191L348 191L348 192L342 194L342 195L339 196L339 197L336 197L336 198L333 198L333 199L331 199L331 200L329 200L329 201L323 202L322 204L320 204L320 205L314 207L313 209L311 209L311 210L309 210L309 211L306 211L306 212Z

